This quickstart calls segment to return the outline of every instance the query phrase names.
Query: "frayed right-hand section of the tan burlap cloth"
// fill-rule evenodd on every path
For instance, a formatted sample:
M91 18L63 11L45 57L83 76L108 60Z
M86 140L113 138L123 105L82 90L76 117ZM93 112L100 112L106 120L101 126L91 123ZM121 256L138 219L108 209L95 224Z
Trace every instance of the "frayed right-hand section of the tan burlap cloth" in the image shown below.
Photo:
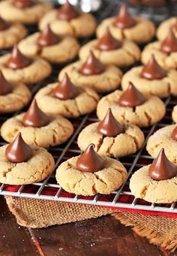
M157 215L142 215L133 212L114 212L112 214L125 226L149 242L168 251L177 249L177 219Z

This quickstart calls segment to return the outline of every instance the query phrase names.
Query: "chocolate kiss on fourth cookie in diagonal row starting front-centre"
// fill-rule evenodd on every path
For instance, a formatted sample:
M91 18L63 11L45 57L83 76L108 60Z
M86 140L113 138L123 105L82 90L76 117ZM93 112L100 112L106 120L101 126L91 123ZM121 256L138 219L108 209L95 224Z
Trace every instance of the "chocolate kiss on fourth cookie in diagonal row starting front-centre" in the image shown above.
M156 59L154 59L154 55L152 54L148 63L142 68L140 77L147 80L158 80L166 77L166 71L158 65Z

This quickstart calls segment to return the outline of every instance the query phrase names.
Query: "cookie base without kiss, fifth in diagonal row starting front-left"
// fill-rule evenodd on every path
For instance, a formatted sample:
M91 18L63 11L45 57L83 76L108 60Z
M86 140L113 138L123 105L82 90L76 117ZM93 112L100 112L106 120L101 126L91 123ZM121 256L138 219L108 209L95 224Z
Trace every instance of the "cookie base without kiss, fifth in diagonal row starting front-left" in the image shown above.
M121 41L121 47L115 50L99 50L97 48L98 39L90 41L80 49L80 59L85 61L90 53L90 50L95 54L95 57L100 59L106 65L116 65L118 67L127 67L133 65L139 60L140 50L131 41Z

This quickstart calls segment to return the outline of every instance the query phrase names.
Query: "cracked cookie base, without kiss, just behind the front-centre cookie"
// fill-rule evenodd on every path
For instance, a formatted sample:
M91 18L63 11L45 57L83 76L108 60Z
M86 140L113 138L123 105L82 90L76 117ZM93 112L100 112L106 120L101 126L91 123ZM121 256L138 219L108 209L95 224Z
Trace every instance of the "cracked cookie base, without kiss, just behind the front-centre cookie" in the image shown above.
M98 132L99 124L95 122L80 132L77 143L82 151L94 143L99 155L120 158L135 153L144 143L144 134L136 125L123 125L124 131L121 134L108 137Z

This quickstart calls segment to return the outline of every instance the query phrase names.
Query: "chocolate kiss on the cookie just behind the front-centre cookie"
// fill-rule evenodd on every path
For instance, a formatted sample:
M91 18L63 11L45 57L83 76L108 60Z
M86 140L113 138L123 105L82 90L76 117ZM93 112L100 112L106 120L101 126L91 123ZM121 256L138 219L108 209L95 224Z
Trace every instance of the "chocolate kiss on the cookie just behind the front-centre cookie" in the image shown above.
M97 128L98 133L107 137L115 137L124 131L123 126L115 119L111 109L107 110L107 115L100 122Z

